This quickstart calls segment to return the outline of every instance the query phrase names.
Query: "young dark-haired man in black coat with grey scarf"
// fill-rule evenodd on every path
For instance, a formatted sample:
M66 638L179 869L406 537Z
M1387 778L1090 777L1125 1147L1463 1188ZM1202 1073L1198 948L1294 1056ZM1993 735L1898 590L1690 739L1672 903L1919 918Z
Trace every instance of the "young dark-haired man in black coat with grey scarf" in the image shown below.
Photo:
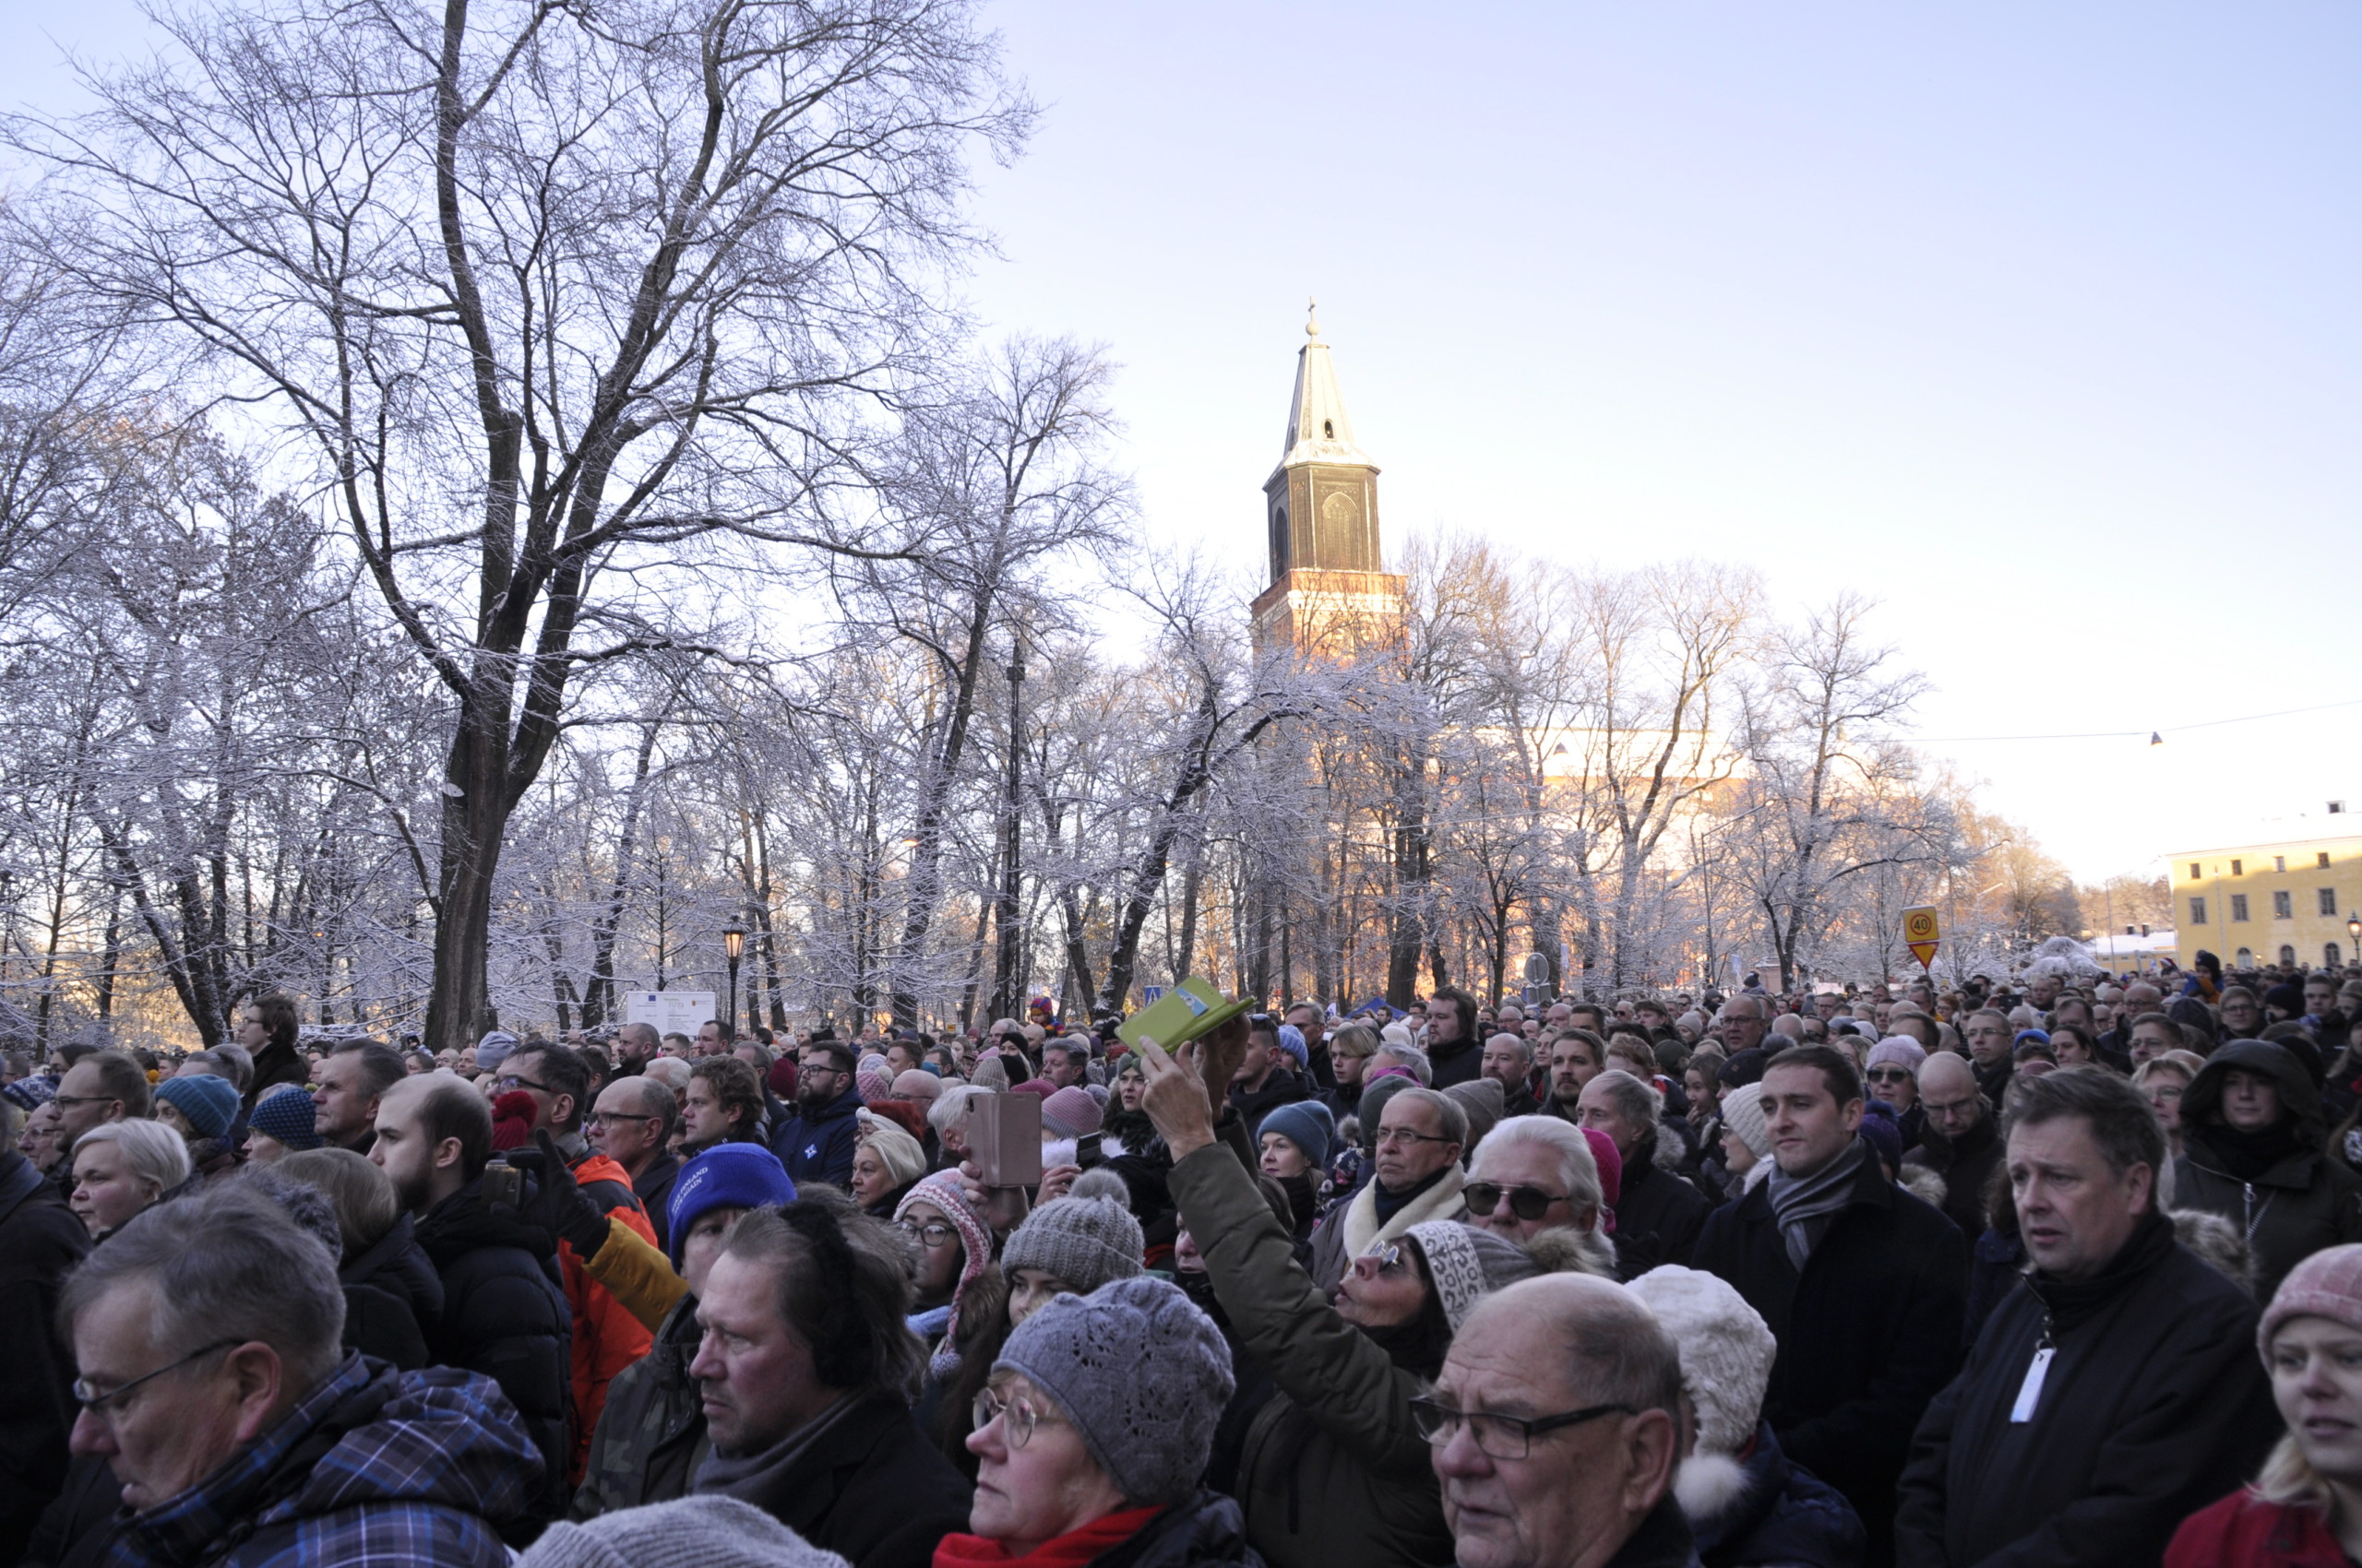
M1753 1093L1772 1176L1705 1221L1691 1266L1772 1325L1764 1419L1861 1514L1864 1561L1887 1563L1911 1429L1960 1363L1968 1242L1854 1136L1861 1077L1842 1051L1781 1051Z

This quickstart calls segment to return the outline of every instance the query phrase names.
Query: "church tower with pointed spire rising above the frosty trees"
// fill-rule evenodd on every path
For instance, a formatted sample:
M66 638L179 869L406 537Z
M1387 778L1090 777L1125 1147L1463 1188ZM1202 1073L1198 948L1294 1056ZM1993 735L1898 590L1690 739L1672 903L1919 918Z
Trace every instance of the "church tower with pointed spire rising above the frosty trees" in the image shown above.
M1257 649L1351 656L1403 633L1403 579L1377 545L1377 463L1353 444L1337 366L1309 314L1280 465L1264 482L1271 586L1254 597Z

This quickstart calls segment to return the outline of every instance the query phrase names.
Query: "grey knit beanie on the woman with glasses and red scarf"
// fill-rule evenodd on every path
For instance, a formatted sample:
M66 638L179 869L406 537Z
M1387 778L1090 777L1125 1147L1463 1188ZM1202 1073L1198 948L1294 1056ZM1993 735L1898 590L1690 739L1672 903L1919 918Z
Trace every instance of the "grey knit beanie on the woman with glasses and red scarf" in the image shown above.
M1198 1488L1238 1386L1214 1320L1155 1278L1053 1299L1009 1334L992 1367L1023 1372L1058 1400L1091 1459L1138 1509Z

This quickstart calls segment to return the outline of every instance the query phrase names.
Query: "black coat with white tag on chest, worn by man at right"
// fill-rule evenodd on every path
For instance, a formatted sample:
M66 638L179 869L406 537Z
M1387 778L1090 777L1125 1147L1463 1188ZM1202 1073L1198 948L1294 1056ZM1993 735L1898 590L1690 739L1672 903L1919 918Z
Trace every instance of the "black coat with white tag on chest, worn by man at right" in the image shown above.
M2010 1410L2045 1327L2034 1419ZM2256 1304L2152 1214L2097 1280L2029 1275L1911 1440L1904 1568L2154 1563L2279 1438Z

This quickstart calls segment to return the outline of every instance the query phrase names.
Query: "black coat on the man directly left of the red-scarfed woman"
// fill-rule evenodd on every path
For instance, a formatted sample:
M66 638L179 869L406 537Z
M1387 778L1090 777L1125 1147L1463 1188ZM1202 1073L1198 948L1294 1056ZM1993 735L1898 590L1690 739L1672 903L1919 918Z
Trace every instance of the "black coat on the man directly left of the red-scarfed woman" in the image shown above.
M902 1400L864 1398L822 1438L787 1464L697 1490L751 1502L853 1568L931 1568L935 1542L968 1528L968 1478Z

